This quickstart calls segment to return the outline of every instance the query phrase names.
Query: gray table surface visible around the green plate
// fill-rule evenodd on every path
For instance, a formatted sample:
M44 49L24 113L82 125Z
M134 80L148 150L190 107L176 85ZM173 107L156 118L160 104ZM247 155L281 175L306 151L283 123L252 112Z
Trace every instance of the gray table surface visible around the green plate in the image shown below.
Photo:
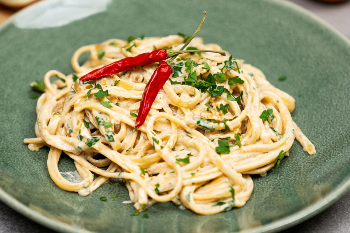
M310 10L350 38L350 1L336 4L320 3L313 0L291 0ZM0 202L0 233L55 233L41 226ZM350 193L338 200L327 210L282 233L349 233Z

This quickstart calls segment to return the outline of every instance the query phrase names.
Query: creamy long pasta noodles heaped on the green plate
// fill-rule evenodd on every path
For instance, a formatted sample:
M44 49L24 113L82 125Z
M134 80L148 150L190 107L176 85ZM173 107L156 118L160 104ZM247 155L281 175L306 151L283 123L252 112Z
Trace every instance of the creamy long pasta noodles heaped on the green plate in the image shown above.
M155 48L176 50L182 43L183 38L174 35L136 39L131 43L111 39L78 49L72 57L72 66L81 77L121 58ZM222 51L217 44L203 44L201 38L195 38L189 46ZM84 52L91 56L80 66L78 58ZM232 60L237 63L227 70L224 61L229 56L206 52L181 54L175 65L183 68L177 70L179 77L171 79L184 82L188 75L184 63L190 58L198 64L193 68L198 80L221 70L227 79L238 76L244 80L236 85L229 85L227 80L216 82L234 98L239 99L243 92L241 104L228 100L229 93L225 91L221 96L211 97L191 85L172 85L167 81L144 125L137 130L136 117L131 113L137 114L143 90L158 64L96 80L103 91L108 90L103 99L94 96L100 89L93 84L73 82L73 74L66 76L51 70L44 76L45 92L37 101L37 137L24 142L30 150L49 146L47 165L52 180L59 188L81 196L89 195L109 178L121 178L139 211L168 201L183 204L198 214L241 207L253 190L250 175L265 176L295 138L310 155L316 151L292 120L293 97L272 86L259 69L243 60ZM51 76L61 79L50 82ZM221 106L226 106L227 112ZM271 123L259 118L267 109L273 110ZM228 141L228 154L217 153L218 140ZM60 174L58 161L62 151L74 160L81 182L70 182ZM105 158L95 159L97 154Z

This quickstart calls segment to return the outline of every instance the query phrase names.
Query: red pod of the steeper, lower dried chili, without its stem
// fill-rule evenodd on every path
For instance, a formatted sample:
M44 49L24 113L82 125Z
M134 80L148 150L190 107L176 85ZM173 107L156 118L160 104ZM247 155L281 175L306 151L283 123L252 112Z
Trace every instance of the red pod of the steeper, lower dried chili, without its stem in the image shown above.
M167 62L161 62L155 69L151 79L146 85L144 94L142 95L139 113L136 118L135 128L139 128L147 117L149 110L162 86L167 82L172 68Z

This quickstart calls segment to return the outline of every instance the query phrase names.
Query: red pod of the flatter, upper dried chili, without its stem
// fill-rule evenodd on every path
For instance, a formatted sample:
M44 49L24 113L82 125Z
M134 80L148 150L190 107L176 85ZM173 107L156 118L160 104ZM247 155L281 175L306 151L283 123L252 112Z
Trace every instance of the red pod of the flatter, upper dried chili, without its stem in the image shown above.
M167 55L168 54L166 49L157 49L152 52L145 52L144 54L140 54L135 57L126 57L102 68L93 70L81 77L79 80L85 82L88 80L98 79L103 76L113 75L114 73L130 70L136 66L149 65L154 62L160 62L165 60L167 58Z

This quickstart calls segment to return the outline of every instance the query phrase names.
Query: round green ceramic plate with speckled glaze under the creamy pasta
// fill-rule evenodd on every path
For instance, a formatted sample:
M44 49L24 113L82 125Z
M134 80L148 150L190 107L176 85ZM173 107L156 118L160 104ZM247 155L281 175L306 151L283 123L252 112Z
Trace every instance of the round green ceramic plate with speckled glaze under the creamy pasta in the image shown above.
M350 45L327 24L287 1L70 2L39 2L0 28L0 197L7 205L60 232L274 232L314 216L349 190ZM278 170L254 177L243 208L212 216L159 203L147 210L148 219L131 217L134 209L122 203L128 195L118 180L87 197L57 188L46 168L48 148L32 152L23 144L35 136L29 83L51 69L71 73L73 52L86 44L191 34L203 10L208 17L198 36L257 66L295 97L292 116L317 154L307 155L295 142ZM73 170L65 156L59 167Z

